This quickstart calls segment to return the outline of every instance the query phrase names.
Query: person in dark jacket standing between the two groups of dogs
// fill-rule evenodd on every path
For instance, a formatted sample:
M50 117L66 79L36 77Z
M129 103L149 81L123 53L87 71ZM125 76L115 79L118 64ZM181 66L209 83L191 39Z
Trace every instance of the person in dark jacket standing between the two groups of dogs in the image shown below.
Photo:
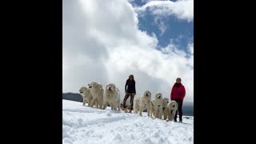
M130 96L130 104L131 104L131 109L133 110L134 106L134 95L136 94L136 88L135 88L135 81L134 81L134 75L130 74L129 78L126 80L126 96L123 99L123 106L126 107L126 100Z

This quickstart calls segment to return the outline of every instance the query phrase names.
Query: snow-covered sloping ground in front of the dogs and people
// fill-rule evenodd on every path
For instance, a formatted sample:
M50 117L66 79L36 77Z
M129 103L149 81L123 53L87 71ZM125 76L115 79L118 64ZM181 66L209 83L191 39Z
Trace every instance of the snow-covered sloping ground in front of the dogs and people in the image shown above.
M194 118L183 123L82 106L62 100L62 143L184 144L194 143Z

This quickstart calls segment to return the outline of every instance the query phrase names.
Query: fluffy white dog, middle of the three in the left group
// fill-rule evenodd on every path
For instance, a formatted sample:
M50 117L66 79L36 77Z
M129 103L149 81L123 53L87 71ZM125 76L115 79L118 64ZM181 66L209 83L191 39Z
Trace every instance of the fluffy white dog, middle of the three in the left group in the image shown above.
M88 84L88 86L91 86L90 94L93 97L90 101L90 107L93 107L94 105L96 105L97 108L102 109L103 93L104 93L104 89L102 88L102 85L98 82L91 82L90 84Z

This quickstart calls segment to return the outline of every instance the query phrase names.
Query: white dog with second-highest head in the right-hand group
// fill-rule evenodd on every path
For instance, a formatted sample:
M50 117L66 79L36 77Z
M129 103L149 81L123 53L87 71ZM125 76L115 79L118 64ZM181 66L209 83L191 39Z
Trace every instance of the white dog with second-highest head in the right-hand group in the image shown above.
M154 97L154 117L162 119L162 93L157 93Z

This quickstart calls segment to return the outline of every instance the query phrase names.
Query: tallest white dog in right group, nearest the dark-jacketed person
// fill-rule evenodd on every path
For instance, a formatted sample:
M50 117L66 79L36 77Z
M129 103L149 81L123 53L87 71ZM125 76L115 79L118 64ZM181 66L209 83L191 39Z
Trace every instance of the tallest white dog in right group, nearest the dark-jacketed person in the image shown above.
M150 102L151 102L151 92L146 90L139 100L139 115L142 115L142 111L146 109L147 116L150 116Z

